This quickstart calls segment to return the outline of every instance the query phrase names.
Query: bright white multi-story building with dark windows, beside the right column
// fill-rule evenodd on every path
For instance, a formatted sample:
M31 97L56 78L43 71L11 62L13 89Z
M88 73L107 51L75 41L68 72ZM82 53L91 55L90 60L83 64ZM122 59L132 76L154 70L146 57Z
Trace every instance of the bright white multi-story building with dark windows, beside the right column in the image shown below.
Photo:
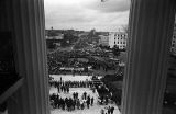
M109 46L112 48L117 45L120 49L124 49L127 47L127 32L111 32L109 34Z

